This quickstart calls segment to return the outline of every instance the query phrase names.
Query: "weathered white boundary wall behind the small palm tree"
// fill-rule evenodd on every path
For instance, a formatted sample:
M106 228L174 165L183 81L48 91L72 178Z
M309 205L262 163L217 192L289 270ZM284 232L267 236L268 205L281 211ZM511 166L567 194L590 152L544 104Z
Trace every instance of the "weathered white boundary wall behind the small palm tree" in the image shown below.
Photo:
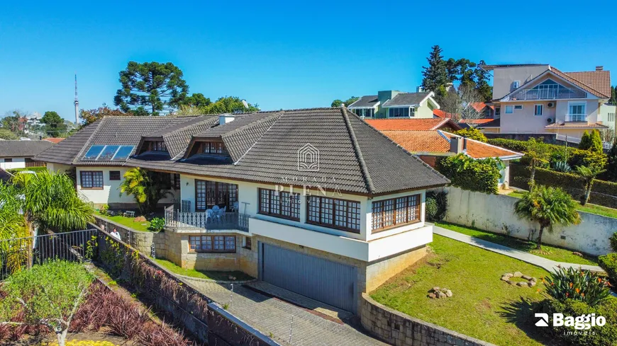
M448 190L448 214L445 221L453 224L474 226L484 231L510 234L516 238L538 237L539 226L514 214L515 197L487 195L450 186ZM608 237L617 232L617 219L579 212L581 223L572 226L555 226L553 232L545 231L542 242L569 248L591 255L611 252Z

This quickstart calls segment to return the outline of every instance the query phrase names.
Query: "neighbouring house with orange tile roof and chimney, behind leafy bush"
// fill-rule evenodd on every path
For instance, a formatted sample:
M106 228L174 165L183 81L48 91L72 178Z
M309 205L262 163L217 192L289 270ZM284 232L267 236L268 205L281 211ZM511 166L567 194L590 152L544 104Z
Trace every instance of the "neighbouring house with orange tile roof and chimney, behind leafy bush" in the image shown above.
M435 167L438 158L463 153L474 159L499 158L504 167L501 169L498 188L509 188L510 161L523 157L523 154L500 148L491 144L468 139L441 130L408 131L394 130L382 131L396 144L412 154L418 155L431 167Z

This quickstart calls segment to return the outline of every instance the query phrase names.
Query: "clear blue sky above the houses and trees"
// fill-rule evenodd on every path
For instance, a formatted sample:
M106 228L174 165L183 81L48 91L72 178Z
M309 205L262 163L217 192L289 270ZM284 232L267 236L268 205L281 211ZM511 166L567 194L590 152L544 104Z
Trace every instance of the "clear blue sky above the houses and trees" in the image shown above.
M190 93L263 110L413 91L435 44L490 64L617 71L615 1L536 1L535 11L511 1L58 2L2 4L0 116L56 110L72 120L74 71L81 108L113 105L130 60L173 62Z

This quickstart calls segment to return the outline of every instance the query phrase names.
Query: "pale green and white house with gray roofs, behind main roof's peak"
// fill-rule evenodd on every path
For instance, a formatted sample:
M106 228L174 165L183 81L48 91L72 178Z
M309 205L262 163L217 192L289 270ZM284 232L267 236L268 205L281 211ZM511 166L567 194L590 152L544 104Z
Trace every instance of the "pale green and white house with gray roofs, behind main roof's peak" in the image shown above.
M362 96L348 105L349 110L364 118L431 118L433 110L439 109L435 93L402 93L379 91L377 95Z

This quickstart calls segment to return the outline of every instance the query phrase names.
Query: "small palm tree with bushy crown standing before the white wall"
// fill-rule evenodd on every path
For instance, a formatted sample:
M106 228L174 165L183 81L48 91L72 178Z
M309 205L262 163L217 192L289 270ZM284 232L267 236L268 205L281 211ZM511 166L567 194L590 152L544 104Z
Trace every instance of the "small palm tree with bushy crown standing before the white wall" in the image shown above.
M514 212L518 217L530 219L540 224L538 232L538 250L542 246L544 229L552 232L552 226L561 224L579 224L581 217L576 211L577 204L572 197L561 188L547 188L538 185L533 190L525 192L521 200L514 204Z

